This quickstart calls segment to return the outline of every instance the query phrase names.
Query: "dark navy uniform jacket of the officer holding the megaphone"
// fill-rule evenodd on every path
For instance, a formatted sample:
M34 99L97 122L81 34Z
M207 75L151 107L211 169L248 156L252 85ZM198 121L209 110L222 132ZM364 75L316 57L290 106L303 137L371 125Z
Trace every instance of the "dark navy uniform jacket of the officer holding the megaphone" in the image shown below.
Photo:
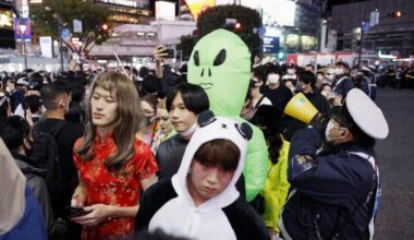
M292 239L337 233L339 239L367 239L376 175L367 159L352 152L373 156L373 149L346 143L316 155L320 139L315 129L304 129L291 142L288 176L295 193L281 213L281 232Z

